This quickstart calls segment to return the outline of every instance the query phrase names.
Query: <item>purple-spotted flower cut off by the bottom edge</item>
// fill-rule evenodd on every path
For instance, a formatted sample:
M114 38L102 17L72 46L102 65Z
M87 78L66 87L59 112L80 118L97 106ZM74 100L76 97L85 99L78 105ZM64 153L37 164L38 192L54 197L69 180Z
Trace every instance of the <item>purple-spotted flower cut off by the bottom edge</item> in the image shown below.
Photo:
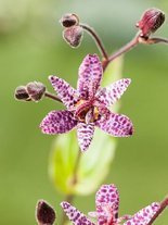
M95 225L68 202L64 201L61 205L74 225ZM159 210L159 203L154 202L133 216L125 215L118 218L119 195L115 185L103 185L99 189L95 196L95 205L96 212L89 214L96 217L98 225L119 225L124 220L127 220L127 222L122 225L147 225Z

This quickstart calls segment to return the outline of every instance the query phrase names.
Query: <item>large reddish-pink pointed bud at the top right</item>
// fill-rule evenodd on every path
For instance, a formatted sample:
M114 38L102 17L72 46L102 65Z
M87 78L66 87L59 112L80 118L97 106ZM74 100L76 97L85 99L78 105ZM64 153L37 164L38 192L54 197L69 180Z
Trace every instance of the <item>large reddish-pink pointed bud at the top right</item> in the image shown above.
M147 38L155 33L165 22L165 14L158 9L150 9L145 11L141 20L137 23L142 33L141 36Z

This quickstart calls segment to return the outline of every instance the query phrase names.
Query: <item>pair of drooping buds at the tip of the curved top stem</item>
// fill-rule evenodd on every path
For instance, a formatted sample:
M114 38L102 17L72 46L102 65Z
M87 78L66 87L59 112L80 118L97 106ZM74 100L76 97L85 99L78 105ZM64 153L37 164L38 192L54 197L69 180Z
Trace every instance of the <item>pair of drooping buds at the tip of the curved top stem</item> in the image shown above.
M65 41L73 48L79 47L82 40L83 29L79 24L78 16L74 13L68 13L65 14L60 22L64 27L63 38Z

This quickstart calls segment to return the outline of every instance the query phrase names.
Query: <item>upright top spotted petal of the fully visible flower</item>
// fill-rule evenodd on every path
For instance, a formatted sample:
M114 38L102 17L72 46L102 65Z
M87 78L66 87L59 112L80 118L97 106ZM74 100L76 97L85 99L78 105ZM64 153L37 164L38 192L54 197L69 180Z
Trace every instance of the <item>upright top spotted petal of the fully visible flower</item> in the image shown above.
M93 97L100 87L103 70L100 59L95 54L88 54L80 67L77 90L80 97L88 99Z

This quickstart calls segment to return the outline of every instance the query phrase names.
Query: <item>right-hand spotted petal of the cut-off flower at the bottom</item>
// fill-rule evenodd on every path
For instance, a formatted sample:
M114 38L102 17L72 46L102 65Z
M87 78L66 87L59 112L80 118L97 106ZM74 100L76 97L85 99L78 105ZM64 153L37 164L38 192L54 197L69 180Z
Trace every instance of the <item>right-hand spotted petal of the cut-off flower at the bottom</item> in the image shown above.
M124 223L124 225L147 225L158 209L159 203L154 202L151 205L140 210L132 216L132 218Z

